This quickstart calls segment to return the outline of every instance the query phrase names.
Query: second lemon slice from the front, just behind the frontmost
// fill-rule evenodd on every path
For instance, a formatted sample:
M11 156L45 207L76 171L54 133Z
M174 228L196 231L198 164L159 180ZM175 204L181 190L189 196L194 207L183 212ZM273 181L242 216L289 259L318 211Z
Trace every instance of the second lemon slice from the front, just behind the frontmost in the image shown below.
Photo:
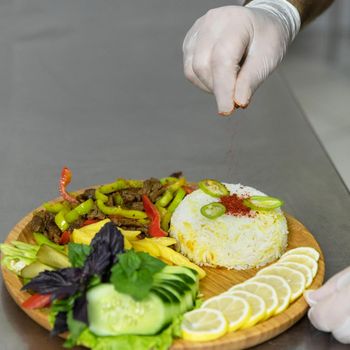
M233 295L218 295L206 300L201 307L221 311L228 322L229 332L241 328L251 314L249 303Z

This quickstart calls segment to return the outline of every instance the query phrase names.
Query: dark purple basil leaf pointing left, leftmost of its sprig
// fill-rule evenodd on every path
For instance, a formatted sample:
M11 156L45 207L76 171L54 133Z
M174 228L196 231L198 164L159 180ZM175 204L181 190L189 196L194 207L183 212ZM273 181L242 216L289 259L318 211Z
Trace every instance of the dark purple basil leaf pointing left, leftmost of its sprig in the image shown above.
M75 294L83 281L81 281L82 269L69 267L56 271L44 271L22 290L32 290L39 294L52 294L53 299L66 298Z

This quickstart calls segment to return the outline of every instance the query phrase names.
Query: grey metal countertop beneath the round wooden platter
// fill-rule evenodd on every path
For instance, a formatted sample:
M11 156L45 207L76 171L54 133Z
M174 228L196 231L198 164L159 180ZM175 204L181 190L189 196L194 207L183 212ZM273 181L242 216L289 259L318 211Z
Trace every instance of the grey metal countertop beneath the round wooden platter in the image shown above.
M223 2L221 2L223 4ZM327 277L350 264L350 197L283 79L232 118L187 83L181 44L217 1L7 0L0 3L1 240L74 188L182 170L252 185L286 202L319 241ZM1 281L1 349L59 349ZM303 319L261 349L341 349Z

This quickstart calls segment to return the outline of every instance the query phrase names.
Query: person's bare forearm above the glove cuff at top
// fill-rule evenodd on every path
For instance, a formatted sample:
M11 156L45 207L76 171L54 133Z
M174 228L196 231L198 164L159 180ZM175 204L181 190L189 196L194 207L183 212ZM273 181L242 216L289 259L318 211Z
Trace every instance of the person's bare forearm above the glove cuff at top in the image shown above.
M251 1L248 0L245 4ZM334 0L288 0L288 2L296 7L300 14L301 25L304 26L325 11Z

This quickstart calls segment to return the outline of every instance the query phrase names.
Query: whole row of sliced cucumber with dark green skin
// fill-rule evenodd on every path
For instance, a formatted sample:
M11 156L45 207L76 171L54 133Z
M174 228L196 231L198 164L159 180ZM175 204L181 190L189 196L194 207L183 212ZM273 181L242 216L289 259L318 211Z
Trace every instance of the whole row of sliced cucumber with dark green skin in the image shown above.
M197 272L181 266L166 266L157 273L142 301L117 292L112 284L100 284L87 293L90 329L101 336L156 334L192 309L197 293Z

